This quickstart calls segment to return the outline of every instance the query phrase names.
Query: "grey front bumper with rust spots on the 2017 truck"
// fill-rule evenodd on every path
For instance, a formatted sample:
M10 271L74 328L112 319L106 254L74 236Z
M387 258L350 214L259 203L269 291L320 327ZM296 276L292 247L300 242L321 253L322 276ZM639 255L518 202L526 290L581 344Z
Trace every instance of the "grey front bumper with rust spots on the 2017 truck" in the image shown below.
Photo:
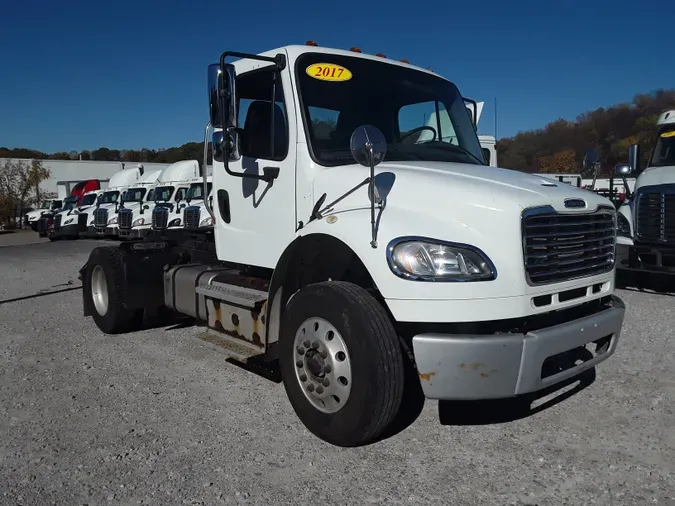
M616 350L625 306L615 296L606 309L527 333L440 334L413 337L413 351L425 397L479 400L513 397L572 378ZM589 360L545 375L561 354L587 348ZM549 360L550 359L550 360Z

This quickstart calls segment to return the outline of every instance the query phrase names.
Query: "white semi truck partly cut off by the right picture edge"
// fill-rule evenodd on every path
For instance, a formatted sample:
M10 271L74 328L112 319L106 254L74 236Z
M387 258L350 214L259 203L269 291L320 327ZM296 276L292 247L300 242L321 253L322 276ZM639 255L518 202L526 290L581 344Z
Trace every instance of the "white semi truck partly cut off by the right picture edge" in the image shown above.
M637 176L632 195L619 208L617 269L628 275L628 284L675 291L675 110L662 113L656 128L646 167L639 166L634 144L629 162L614 168L625 187L626 176Z

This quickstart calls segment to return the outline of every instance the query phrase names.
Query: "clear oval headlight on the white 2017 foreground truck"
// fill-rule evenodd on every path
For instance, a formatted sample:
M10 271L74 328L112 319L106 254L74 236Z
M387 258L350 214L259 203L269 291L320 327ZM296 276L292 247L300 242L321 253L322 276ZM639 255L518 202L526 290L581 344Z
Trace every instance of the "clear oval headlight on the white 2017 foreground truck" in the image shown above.
M488 281L497 277L490 259L478 248L433 239L394 239L387 247L389 268L416 281Z

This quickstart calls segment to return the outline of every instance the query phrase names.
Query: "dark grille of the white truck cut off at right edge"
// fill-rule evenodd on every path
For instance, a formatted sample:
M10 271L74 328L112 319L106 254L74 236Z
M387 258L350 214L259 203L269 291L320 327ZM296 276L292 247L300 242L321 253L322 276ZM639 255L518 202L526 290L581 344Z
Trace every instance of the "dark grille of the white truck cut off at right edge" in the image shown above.
M642 241L675 243L675 188L645 191L637 197L636 236Z

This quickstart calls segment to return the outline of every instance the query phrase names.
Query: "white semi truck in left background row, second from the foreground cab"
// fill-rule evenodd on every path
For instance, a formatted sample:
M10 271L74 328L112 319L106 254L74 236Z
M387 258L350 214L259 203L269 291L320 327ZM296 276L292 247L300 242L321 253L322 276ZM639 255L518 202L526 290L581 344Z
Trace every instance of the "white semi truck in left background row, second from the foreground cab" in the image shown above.
M126 238L144 237L152 229L164 230L181 227L182 211L186 207L185 195L189 181L199 176L197 160L181 160L162 170L155 185L153 201L147 205L143 222L130 222L124 218Z

